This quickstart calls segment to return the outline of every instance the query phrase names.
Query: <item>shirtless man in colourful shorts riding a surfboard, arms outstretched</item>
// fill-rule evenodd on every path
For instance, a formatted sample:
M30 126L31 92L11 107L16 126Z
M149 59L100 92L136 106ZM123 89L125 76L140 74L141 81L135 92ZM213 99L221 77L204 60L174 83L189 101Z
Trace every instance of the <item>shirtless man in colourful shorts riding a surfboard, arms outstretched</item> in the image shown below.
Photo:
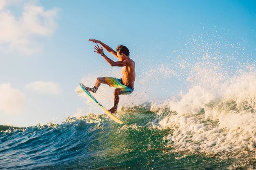
M99 40L90 39L89 41L95 42L96 44L99 43L102 45L103 48L105 48L109 53L113 54L116 58L119 59L119 61L114 62L112 59L108 58L104 52L103 48L99 48L99 45L95 45L94 49L98 54L100 54L106 62L108 62L109 65L112 67L122 67L122 79L116 79L114 77L98 77L96 80L96 83L93 88L83 87L88 90L92 91L93 93L96 93L99 86L103 83L106 85L109 85L109 87L116 88L114 90L114 106L113 108L109 109L108 111L110 113L115 113L117 110L117 105L119 102L119 95L120 94L131 94L134 91L134 81L135 81L135 62L130 59L129 57L129 50L124 45L118 45L116 47L116 51L114 51L112 48L110 48L108 45L104 44L103 42Z

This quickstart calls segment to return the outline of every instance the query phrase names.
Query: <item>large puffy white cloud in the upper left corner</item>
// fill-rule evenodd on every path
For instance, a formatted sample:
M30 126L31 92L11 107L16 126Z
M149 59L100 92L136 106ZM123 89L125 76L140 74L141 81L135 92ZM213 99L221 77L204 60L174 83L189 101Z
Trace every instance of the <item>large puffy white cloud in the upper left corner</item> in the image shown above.
M42 45L35 41L36 36L49 36L57 28L55 19L58 8L45 10L36 5L35 0L0 0L0 51L13 50L24 54L39 51ZM23 6L20 16L14 14L11 6Z

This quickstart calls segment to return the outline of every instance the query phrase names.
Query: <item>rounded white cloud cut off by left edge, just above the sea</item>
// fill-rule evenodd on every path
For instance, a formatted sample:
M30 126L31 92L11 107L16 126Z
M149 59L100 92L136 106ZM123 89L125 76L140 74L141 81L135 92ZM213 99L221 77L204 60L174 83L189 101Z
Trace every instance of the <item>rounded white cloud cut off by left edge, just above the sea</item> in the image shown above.
M26 96L12 88L10 83L0 84L0 111L18 113L25 108Z

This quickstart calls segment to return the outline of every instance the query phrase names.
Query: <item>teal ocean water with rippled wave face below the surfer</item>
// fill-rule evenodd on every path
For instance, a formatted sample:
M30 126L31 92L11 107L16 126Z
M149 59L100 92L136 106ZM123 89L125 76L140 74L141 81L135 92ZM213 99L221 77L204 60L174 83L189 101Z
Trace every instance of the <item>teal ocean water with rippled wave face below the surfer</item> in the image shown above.
M192 119L200 119L200 114ZM246 144L240 147L225 144L228 134L224 129L216 130L216 121L201 120L206 127L203 131L209 136L212 133L212 138L216 139L207 141L206 133L204 139L194 138L195 126L194 131L186 133L175 123L173 126L161 127L161 122L166 122L167 117L177 116L176 112L168 109L157 114L150 111L149 104L145 104L123 108L117 116L126 124L119 125L105 115L89 114L80 118L67 118L60 125L48 123L2 130L0 169L255 168L255 146L251 149ZM220 133L223 137L218 136ZM241 137L238 133L234 138ZM205 144L207 147L202 146Z

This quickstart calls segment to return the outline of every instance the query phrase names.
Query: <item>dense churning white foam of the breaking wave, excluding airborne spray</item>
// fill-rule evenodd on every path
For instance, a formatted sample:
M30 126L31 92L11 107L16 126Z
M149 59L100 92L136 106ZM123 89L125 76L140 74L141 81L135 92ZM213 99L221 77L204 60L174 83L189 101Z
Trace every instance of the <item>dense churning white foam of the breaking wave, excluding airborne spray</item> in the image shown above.
M206 78L209 82L212 76ZM152 111L170 110L159 127L173 129L165 139L174 151L224 153L224 157L256 152L256 72L222 80L215 79L210 87L203 81L162 105L152 104Z

